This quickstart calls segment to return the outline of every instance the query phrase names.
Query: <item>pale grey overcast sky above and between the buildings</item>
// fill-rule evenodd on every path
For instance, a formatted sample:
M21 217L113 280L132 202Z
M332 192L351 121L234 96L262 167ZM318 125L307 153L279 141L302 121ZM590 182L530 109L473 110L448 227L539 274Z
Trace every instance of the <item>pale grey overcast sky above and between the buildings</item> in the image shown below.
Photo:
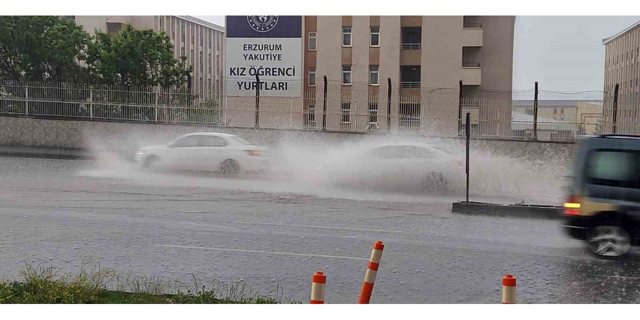
M196 16L224 26L225 16ZM538 81L541 90L602 91L604 45L640 20L640 16L518 16L513 48L513 90L529 90ZM517 95L528 99L532 93ZM597 99L601 93L560 95L547 99Z

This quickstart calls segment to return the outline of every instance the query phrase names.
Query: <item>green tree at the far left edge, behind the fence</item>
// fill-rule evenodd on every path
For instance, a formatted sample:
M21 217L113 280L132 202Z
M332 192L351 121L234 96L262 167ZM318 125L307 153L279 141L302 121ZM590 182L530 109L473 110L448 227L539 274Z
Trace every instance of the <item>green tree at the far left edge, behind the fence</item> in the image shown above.
M55 16L0 16L0 78L86 81L90 35L73 20Z

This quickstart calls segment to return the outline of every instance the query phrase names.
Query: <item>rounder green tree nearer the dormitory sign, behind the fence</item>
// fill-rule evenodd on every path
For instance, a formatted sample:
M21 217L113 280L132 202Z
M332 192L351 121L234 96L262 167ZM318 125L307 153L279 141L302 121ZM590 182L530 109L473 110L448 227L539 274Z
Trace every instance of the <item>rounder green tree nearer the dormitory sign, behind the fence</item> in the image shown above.
M173 58L173 44L164 33L125 24L116 33L96 30L87 64L100 83L175 88L186 83L191 67L186 57Z

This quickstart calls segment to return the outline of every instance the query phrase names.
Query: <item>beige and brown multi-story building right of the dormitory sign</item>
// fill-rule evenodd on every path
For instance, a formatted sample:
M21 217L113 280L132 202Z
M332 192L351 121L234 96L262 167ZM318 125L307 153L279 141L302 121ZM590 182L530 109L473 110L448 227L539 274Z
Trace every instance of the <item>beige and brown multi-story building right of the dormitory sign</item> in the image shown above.
M385 115L390 79L392 101L399 101L390 106L398 115L392 126L456 132L460 97L476 105L484 98L511 100L514 26L514 16L304 16L303 89L316 96L305 110L317 110L326 76L328 92L344 97L328 102L328 110L349 115L353 97L372 97L369 114ZM510 108L473 104L463 109L463 117L472 113L472 125L503 120L483 132L509 134ZM351 118L335 118L353 128Z

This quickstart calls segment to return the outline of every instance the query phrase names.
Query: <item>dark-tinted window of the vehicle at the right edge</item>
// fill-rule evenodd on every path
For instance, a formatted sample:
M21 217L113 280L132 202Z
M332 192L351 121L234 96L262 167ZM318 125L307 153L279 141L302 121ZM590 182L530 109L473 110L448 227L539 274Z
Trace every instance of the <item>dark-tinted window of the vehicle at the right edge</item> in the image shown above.
M591 152L586 173L591 184L623 188L640 188L638 152L597 150Z

